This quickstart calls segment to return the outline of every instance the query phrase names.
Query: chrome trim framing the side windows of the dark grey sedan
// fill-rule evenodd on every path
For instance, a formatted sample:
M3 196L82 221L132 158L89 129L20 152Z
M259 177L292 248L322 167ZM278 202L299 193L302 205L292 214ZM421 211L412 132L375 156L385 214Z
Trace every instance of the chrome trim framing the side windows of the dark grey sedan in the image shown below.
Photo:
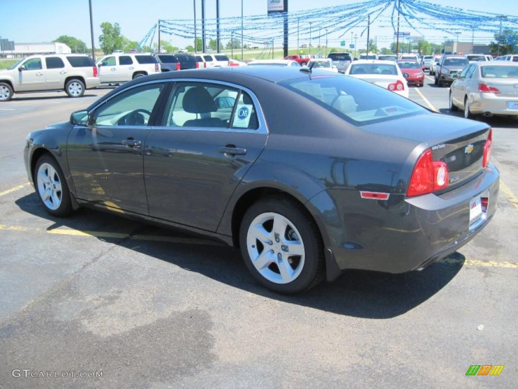
M257 96L255 95L254 92L252 92L250 89L248 89L246 87L243 87L238 84L234 84L233 82L213 80L213 79L207 79L207 78L168 78L168 79L159 79L159 80L150 80L150 81L146 81L146 82L139 82L138 84L124 88L124 89L120 90L119 92L111 95L108 100L101 101L99 104L97 104L91 110L88 111L88 115L90 116L90 114L92 112L94 112L99 106L103 105L104 103L113 99L115 96L118 96L119 94L121 94L127 90L130 90L130 89L133 89L136 87L140 87L142 85L147 85L147 84L160 84L162 82L164 84L167 84L168 82L183 82L183 81L206 82L208 84L220 84L220 85L236 88L236 89L242 90L244 92L247 92L250 95L250 98L252 99L252 101L255 105L255 113L257 114L257 121L259 122L259 127L256 130L237 129L237 128L219 128L219 127L218 128L216 128L216 127L199 127L199 128L196 128L196 127L167 127L167 126L149 126L149 127L153 128L153 129L160 129L160 130L187 130L187 129L189 129L189 130L194 130L194 131L246 132L246 133L250 133L250 134L269 134L270 133L270 131L268 129L268 124L266 124L266 120L264 118L263 107L261 106L261 103L257 99Z

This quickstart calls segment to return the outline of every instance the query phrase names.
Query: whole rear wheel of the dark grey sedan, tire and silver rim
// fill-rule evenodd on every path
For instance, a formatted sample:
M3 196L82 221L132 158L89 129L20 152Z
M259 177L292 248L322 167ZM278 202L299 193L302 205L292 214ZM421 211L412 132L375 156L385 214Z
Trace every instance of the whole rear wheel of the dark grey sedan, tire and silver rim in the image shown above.
M320 232L305 209L288 198L254 203L242 219L239 243L254 278L277 293L297 293L324 279Z

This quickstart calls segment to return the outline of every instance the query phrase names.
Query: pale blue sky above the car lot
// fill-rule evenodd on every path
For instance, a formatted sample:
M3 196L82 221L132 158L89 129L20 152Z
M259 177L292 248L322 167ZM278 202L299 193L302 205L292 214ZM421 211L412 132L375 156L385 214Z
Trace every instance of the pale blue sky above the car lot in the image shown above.
M98 47L100 23L118 22L121 32L130 40L140 41L158 19L192 19L193 1L196 2L197 17L200 18L200 0L92 0L94 38ZM290 11L301 11L319 7L337 6L356 3L358 0L290 0ZM215 0L206 0L207 18L215 18ZM429 0L429 3L452 6L451 0ZM243 0L244 16L265 15L267 0ZM516 0L455 0L455 7L467 10L486 12L502 12L506 15L518 15ZM75 36L90 46L90 16L88 0L0 0L0 36L9 38L16 43L35 43L52 41L60 35ZM220 0L220 17L239 17L241 15L241 0ZM389 13L390 15L390 13ZM380 24L387 24L380 23ZM409 31L408 27L404 28ZM353 30L358 35L357 48L365 47L366 34L359 37L361 29ZM444 33L427 31L428 40L442 40ZM371 26L371 37L379 36L378 47L389 47L392 41L392 29L382 29L376 24ZM487 43L488 33L475 34ZM346 35L349 37L349 34ZM462 38L471 41L471 34L465 33ZM425 38L427 38L425 36ZM163 34L162 39L170 40L177 47L192 44L190 40ZM338 34L329 36L329 46L338 46ZM350 38L349 38L350 39ZM156 40L156 36L155 36ZM333 44L333 41L336 43ZM349 44L349 41L347 41Z

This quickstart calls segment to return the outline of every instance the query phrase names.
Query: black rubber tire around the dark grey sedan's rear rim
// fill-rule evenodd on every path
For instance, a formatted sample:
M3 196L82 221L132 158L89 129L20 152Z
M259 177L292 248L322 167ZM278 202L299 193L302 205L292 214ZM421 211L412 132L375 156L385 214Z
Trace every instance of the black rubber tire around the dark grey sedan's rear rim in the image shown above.
M279 284L267 280L253 265L247 247L247 233L252 221L259 215L275 212L293 223L304 242L305 259L299 275L291 282ZM241 220L239 229L241 255L253 277L266 288L281 294L308 290L324 280L324 246L318 227L307 210L285 196L270 196L252 204ZM264 248L266 249L266 248Z

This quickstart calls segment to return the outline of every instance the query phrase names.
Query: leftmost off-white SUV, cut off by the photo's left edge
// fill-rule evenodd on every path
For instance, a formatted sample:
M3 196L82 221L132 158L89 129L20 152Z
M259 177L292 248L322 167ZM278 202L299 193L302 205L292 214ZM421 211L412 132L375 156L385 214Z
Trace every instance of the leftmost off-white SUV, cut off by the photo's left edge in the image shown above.
M73 98L98 87L95 62L84 54L31 55L0 70L0 101L13 93L65 90Z

